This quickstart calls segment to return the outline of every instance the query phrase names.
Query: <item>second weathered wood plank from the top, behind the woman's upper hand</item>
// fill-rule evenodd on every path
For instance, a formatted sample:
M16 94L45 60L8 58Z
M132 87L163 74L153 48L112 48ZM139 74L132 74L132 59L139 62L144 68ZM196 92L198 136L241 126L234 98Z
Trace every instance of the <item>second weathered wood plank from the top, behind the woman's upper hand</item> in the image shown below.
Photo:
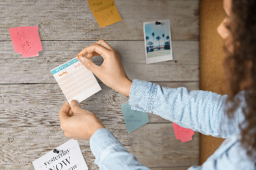
M51 70L76 57L93 42L42 42L43 51L35 58L22 58L13 50L12 42L0 42L0 84L55 83ZM122 63L130 79L145 81L199 81L199 43L173 42L173 61L145 64L142 41L108 42L120 52ZM100 65L101 57L93 58ZM22 76L21 76L22 75Z

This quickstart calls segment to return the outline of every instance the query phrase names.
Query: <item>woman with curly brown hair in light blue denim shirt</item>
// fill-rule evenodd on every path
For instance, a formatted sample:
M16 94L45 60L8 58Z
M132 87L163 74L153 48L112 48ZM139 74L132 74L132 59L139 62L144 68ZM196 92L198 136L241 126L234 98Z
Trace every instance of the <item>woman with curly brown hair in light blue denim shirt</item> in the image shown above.
M130 81L118 52L104 40L78 54L79 61L106 86L129 97L132 109L157 114L202 134L227 138L202 166L189 169L255 169L256 1L224 0L223 7L227 17L218 33L226 42L228 96ZM104 58L101 66L90 61L99 55ZM125 150L95 114L81 109L75 100L63 105L59 118L65 136L90 140L95 164L100 169L148 169Z

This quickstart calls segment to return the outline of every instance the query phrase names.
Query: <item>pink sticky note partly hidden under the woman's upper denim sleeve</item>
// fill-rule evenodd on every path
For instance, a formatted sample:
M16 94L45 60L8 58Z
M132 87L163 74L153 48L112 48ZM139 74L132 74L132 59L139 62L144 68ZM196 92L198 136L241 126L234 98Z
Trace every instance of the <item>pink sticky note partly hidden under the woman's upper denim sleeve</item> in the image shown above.
M177 140L182 141L182 143L186 143L192 140L192 136L195 134L193 130L189 128L180 127L176 123L172 123L172 125Z

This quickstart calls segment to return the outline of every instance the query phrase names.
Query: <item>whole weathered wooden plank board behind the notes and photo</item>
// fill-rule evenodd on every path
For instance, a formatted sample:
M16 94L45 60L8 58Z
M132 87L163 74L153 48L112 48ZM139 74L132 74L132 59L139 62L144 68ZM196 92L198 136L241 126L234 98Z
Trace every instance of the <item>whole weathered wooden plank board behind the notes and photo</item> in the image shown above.
M169 88L199 89L199 0L115 0L122 21L100 29L87 1L0 2L0 169L33 169L33 160L69 139L58 112L65 96L50 70L74 58L100 38L121 56L130 79ZM170 19L173 61L145 64L143 22ZM10 27L39 26L39 57L22 58L13 49ZM100 65L102 58L93 58ZM97 79L99 81L99 79ZM100 82L100 81L99 81ZM199 163L199 134L175 139L172 123L148 114L150 123L127 133L124 97L100 82L102 90L81 102L151 169L186 169ZM98 169L88 141L79 141L89 169Z

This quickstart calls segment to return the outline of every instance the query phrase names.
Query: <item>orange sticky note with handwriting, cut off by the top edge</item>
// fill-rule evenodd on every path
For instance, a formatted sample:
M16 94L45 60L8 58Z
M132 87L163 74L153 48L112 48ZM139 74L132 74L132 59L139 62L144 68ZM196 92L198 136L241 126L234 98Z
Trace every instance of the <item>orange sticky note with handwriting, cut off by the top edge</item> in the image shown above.
M114 0L88 0L88 4L100 27L106 27L122 20Z

